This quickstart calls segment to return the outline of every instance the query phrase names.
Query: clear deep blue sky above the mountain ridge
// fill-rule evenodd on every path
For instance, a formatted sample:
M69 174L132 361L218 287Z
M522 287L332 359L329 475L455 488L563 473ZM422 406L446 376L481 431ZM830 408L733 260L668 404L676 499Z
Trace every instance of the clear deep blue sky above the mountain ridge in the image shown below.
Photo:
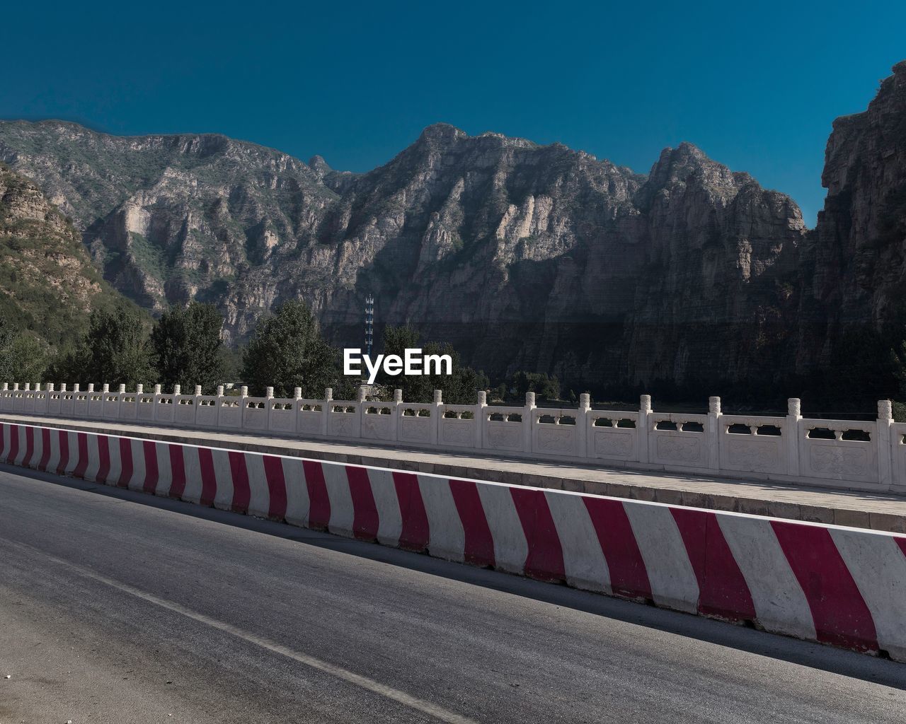
M906 3L15 3L0 118L390 160L429 123L648 172L689 140L814 224L831 121L906 59Z

